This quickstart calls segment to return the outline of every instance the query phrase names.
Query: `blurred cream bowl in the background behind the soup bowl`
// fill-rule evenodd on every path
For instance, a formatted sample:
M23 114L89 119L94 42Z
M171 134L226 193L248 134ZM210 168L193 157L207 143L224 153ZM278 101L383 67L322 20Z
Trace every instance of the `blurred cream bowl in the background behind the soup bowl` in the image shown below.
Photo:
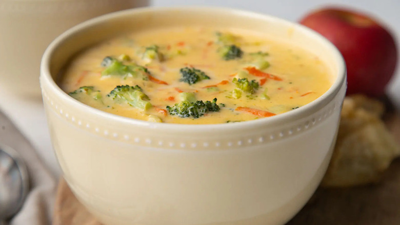
M39 67L46 47L68 28L149 0L0 0L0 88L41 96Z

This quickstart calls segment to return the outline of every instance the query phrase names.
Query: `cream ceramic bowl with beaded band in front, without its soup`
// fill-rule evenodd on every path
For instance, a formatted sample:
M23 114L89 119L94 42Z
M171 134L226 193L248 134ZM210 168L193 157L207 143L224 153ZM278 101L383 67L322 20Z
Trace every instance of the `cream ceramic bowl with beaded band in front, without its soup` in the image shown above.
M332 87L288 113L254 121L182 125L119 117L84 105L56 84L79 50L127 30L173 25L267 32L318 55ZM279 18L223 8L142 8L78 25L46 50L41 85L50 133L70 188L109 225L284 224L328 166L346 89L337 49Z

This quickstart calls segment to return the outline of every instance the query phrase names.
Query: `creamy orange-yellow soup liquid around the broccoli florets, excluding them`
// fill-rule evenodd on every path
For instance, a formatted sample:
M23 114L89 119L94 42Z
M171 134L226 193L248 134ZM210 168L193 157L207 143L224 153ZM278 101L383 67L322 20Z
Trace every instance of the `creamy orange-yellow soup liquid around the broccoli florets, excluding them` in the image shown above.
M231 33L236 37L234 44L244 52L240 59L226 61L221 58L218 49L223 44L216 41L216 31ZM143 59L144 47L150 45L159 46L164 61L149 62ZM279 80L265 78L265 83L252 95L243 93L241 98L232 98L232 90L236 88L232 83L235 77L244 74L249 80L259 84L264 82L264 77L246 74L245 69L254 66L252 64L255 60L251 53L258 51L268 52L263 60L270 64L260 71L273 74ZM101 76L105 69L101 66L103 59L121 54L129 55L130 62L145 66L152 77L168 85L129 76ZM210 79L192 85L180 82L179 69L183 67L200 69ZM108 113L140 120L159 118L166 123L210 124L254 120L264 117L264 111L281 114L301 107L329 89L330 76L327 67L315 55L288 43L271 40L263 33L238 29L175 27L130 33L86 49L68 65L59 85L67 93L81 86L93 86L100 91L101 101L90 96L82 96L78 100ZM205 88L216 84L216 88ZM113 101L107 94L117 85L139 85L150 98L153 107L142 110L124 102ZM224 103L225 107L220 106L219 111L199 118L165 115L166 106L180 102L179 90L194 92L196 100L212 101L217 98L217 103ZM268 97L262 98L263 93ZM243 108L260 110L262 113L237 110Z

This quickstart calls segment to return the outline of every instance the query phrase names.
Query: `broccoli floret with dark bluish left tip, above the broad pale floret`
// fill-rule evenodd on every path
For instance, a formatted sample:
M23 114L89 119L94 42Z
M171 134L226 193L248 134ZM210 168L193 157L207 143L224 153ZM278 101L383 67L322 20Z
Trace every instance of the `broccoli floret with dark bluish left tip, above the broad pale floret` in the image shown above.
M123 77L132 77L132 78L141 78L143 80L149 79L149 70L144 66L139 66L134 63L130 63L129 65L125 65L123 62L118 61L112 57L104 58L102 62L103 67L107 67L102 71L102 76L123 76Z

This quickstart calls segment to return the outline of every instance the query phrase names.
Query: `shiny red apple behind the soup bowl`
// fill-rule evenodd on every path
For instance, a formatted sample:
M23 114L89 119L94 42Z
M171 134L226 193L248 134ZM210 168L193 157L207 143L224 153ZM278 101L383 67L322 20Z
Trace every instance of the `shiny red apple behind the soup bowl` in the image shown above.
M311 12L300 23L321 33L342 53L347 95L384 95L397 63L396 44L388 29L364 14L341 8Z

